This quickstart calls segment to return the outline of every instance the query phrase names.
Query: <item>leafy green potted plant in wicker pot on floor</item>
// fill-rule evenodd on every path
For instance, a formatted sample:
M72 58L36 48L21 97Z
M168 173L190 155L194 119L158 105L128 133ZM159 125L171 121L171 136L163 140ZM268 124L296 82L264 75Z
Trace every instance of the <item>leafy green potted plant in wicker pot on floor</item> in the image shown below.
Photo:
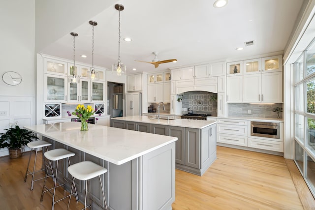
M38 139L32 131L21 129L18 125L4 130L6 133L0 133L0 149L8 148L11 159L20 157L22 147L33 139Z

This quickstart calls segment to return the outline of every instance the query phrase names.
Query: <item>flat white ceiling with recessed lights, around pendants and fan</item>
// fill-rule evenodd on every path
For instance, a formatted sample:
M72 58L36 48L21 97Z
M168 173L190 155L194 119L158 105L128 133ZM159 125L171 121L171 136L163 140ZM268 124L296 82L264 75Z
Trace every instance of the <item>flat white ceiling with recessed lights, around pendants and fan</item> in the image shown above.
M214 8L215 0L121 0L121 61L127 74L153 72L212 60L232 60L283 51L303 0L229 0ZM97 5L95 5L97 6ZM92 26L95 26L94 64L111 69L118 59L118 11L114 4L40 53L92 63ZM123 38L130 37L131 42ZM254 40L245 47L244 42ZM236 51L244 47L242 51ZM177 59L154 65L134 60ZM80 55L87 55L83 59ZM136 71L132 71L136 68Z

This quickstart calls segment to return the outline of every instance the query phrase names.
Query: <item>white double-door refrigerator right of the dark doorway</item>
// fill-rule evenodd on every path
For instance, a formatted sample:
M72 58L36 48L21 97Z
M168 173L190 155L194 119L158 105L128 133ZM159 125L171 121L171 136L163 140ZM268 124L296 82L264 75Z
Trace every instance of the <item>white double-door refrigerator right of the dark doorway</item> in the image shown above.
M126 93L126 116L141 115L141 92Z

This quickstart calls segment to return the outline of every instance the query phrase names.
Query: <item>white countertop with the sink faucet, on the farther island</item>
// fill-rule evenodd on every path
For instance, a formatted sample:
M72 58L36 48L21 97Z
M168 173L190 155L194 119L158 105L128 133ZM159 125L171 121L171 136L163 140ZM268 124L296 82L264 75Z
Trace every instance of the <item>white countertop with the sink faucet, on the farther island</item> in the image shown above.
M177 127L189 127L202 129L212 124L217 123L217 120L189 120L189 119L175 119L175 120L162 120L152 119L149 116L127 116L112 118L112 120L124 120L124 121L133 121L133 122L144 122L150 124L163 124Z

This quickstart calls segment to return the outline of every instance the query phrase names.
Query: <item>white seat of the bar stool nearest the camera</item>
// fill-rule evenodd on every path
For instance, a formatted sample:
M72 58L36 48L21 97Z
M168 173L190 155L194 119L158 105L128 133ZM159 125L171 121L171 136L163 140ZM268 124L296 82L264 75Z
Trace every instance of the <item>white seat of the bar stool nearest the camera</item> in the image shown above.
M78 180L90 180L105 174L107 169L91 161L83 161L68 167L68 172Z

